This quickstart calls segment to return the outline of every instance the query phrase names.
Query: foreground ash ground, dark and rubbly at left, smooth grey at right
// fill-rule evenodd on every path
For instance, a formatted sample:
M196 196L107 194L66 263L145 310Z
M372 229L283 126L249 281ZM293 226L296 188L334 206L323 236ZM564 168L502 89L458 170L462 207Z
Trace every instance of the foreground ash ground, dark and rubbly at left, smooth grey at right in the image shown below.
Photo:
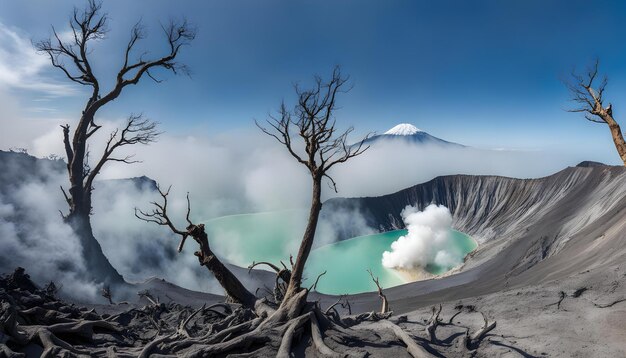
M598 267L541 285L443 302L434 339L427 330L432 307L394 314L389 321L435 357L620 357L626 352L625 279L626 272L619 265ZM54 287L38 288L23 270L3 276L0 357L137 357L142 352L154 357L194 356L195 350L215 341L211 338L215 333L249 322L253 315L236 305L209 308L206 304L202 309L202 297L205 302L214 302L216 297L195 293L185 301L183 297L192 291L161 280L150 284L138 287L150 287L149 296L142 290L135 302L81 307L58 299ZM188 304L157 302L164 295L159 289L162 285L168 296ZM343 314L344 309L339 311ZM183 348L191 341L179 332L181 322L194 312L186 330L195 343ZM497 321L497 326L468 349L465 336L481 329L483 314L490 323ZM357 323L357 317L343 315L326 327L326 345L344 356L411 356L382 321ZM268 340L214 356L273 357L277 349L275 341ZM319 356L304 334L292 354Z

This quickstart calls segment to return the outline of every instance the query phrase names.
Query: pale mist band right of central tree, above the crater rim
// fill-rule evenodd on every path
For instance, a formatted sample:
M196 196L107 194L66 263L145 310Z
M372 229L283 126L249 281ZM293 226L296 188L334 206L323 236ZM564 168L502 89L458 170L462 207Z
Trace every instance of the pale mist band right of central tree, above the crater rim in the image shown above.
M538 178L583 159L572 153L544 150L493 150L404 141L378 142L332 173L340 196L394 193L442 175L499 175Z

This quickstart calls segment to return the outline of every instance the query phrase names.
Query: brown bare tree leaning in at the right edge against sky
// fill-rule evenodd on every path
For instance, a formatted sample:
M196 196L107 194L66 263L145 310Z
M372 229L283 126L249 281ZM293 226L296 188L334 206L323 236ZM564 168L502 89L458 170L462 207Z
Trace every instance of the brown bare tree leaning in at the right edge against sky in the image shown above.
M585 119L588 121L608 125L615 149L626 166L626 142L622 130L613 117L611 103L606 107L604 105L604 91L608 84L608 77L603 76L597 83L598 65L599 61L596 60L584 75L572 71L572 79L566 82L566 85L572 94L572 100L579 106L568 111L585 113Z

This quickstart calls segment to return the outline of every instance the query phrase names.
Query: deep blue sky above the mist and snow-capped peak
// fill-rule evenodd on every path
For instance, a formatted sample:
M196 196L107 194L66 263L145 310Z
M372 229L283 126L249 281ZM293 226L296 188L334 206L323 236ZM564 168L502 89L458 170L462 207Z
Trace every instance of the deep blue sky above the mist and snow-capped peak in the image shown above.
M83 2L2 1L0 24L41 39L50 25L67 29L73 4ZM354 88L342 98L338 118L358 132L409 122L472 146L572 150L619 163L606 127L564 111L570 103L561 79L599 57L610 77L607 100L621 119L624 2L107 0L104 10L111 32L93 53L102 78L112 78L139 18L152 30L142 48L155 54L163 44L159 21L184 16L198 28L181 56L191 78L164 74L162 84L143 81L105 117L144 112L174 133L253 130L253 119L293 98L293 82L306 84L339 64ZM0 71L2 61L7 58L0 57ZM70 86L40 66L24 76ZM0 94L21 108L24 118L16 121L80 113L83 93L19 86L7 76L0 73Z

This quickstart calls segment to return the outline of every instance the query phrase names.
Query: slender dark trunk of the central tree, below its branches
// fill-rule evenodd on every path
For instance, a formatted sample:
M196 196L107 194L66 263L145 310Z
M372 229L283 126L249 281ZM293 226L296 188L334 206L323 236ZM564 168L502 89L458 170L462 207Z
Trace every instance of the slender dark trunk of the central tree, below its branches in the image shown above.
M313 177L313 197L311 202L311 210L309 212L309 221L302 237L302 243L298 250L298 256L296 262L293 265L291 271L291 280L289 280L289 286L283 299L284 302L288 302L295 294L300 291L300 285L302 283L302 275L304 273L304 265L306 264L309 254L311 253L311 247L313 246L313 239L315 238L315 230L317 229L317 222L319 220L320 211L322 210L322 178L319 176Z

